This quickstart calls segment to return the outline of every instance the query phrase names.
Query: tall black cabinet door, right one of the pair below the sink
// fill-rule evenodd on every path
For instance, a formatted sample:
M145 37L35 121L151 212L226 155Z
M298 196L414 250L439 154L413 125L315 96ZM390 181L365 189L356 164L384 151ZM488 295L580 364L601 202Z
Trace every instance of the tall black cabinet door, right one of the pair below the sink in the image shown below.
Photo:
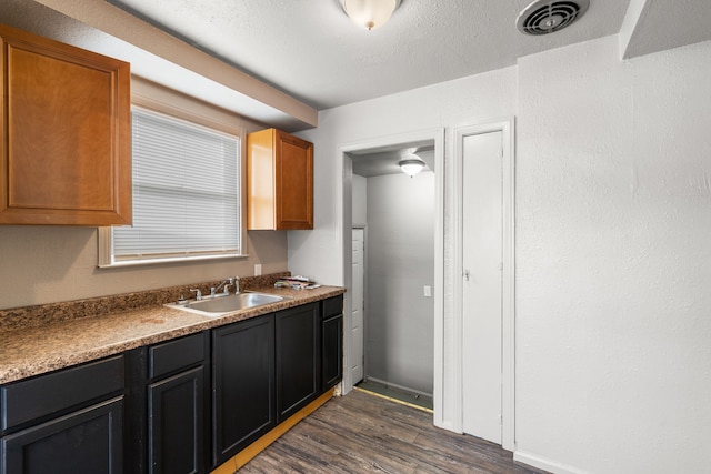
M280 311L277 324L278 422L314 400L319 384L319 304Z

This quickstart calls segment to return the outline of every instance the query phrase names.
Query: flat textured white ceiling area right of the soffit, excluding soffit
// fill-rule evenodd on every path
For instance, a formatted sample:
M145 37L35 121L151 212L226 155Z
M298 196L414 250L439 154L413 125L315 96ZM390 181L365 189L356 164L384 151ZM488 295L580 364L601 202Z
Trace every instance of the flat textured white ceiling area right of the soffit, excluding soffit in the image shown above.
M403 0L373 31L357 28L338 0L109 1L319 110L614 34L629 3L591 0L570 28L531 37L515 28L531 0Z

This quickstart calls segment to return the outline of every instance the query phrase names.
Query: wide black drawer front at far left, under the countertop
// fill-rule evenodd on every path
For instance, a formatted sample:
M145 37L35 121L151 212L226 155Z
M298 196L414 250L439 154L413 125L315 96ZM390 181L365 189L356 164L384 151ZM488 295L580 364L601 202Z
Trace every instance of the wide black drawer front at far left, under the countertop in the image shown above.
M0 389L0 427L13 426L123 390L123 355L64 369Z

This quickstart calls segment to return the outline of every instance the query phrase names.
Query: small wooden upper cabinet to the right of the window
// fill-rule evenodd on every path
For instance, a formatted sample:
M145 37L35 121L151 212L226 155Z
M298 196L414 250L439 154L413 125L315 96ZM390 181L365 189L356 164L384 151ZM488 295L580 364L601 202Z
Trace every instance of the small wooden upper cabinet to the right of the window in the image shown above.
M313 229L313 144L276 129L247 135L247 228Z

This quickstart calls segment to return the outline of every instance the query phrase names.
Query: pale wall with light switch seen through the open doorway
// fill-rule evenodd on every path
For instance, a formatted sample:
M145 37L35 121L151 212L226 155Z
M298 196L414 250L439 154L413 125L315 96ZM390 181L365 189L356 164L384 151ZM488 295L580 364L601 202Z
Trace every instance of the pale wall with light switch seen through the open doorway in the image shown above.
M368 178L365 374L431 395L434 173Z

